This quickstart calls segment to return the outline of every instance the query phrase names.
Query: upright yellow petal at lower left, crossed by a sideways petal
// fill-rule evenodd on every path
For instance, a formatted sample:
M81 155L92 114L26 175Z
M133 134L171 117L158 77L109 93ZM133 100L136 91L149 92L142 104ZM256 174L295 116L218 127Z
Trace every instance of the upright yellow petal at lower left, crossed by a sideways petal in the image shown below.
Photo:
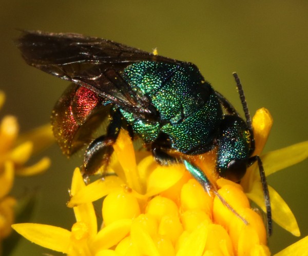
M79 168L75 168L73 173L71 195L76 194L79 190L86 187ZM75 218L77 222L87 224L89 234L94 237L98 231L97 218L92 203L80 204L74 207Z

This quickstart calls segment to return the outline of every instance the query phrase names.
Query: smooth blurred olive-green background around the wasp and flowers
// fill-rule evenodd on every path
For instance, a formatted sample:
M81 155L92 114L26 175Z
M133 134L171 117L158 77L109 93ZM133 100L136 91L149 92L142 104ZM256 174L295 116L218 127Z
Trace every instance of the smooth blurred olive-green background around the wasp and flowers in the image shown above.
M27 66L15 48L16 29L77 32L108 38L160 55L195 63L205 79L241 109L232 72L237 71L251 113L268 108L274 127L265 148L307 140L307 1L18 1L0 2L1 110L18 116L21 131L49 122L67 82ZM67 160L54 145L43 175L17 179L14 194L36 190L31 222L70 229L67 189L81 154ZM41 156L42 156L41 155ZM293 210L302 237L308 234L308 161L268 178ZM99 210L99 209L98 209ZM285 220L287 221L287 220ZM275 253L299 238L274 226L269 247ZM13 255L48 251L21 240Z

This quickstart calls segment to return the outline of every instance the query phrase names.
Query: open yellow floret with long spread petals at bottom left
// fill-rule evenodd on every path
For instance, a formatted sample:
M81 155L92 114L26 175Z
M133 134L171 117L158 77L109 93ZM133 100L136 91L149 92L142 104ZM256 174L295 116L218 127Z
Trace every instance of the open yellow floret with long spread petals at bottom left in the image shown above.
M72 179L71 195L85 188L82 175L75 169ZM71 231L43 224L14 224L12 227L25 238L41 246L69 255L94 255L119 243L129 232L131 219L113 222L108 228L97 231L97 218L92 203L73 208L76 223Z

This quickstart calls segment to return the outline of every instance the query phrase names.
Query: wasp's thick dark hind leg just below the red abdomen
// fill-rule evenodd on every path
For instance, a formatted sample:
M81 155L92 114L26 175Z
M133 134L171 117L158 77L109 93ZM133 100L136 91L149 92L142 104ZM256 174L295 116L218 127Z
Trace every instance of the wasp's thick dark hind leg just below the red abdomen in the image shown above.
M83 164L84 176L92 175L102 167L105 170L109 164L113 152L112 145L117 141L122 125L119 109L111 109L111 112L107 133L92 141L86 150Z

